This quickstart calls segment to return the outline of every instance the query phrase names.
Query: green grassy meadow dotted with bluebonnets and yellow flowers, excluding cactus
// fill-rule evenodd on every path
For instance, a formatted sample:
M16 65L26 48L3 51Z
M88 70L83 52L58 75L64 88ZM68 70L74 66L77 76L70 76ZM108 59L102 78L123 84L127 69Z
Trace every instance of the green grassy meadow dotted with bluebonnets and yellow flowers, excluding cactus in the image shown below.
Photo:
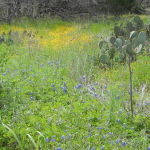
M132 18L2 23L0 34L14 43L0 45L0 149L150 149L149 56L131 64L133 121L128 66L101 68L89 59L116 22Z

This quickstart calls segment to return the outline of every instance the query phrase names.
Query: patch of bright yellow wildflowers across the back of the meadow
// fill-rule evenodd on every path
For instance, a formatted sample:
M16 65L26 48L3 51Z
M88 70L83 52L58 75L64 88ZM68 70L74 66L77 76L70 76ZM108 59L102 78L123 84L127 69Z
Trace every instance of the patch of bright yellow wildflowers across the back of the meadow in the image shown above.
M12 32L19 32L20 35L23 34L23 31L26 30L27 33L32 31L32 34L36 32L34 27L28 27L24 29L19 26L9 26L7 24L0 26L0 31L3 33L8 33L10 30ZM2 34L1 33L1 34ZM6 34L7 36L7 34ZM42 37L41 37L42 36ZM35 42L36 41L36 42ZM80 48L83 48L84 44L92 42L92 38L89 37L88 34L79 32L78 27L72 26L59 26L55 30L51 29L40 29L39 33L35 35L35 37L29 42L29 37L23 38L24 45L27 47L29 43L31 46L37 46L35 43L38 44L40 48L51 48L52 51L61 50L62 47L69 47L71 45L78 45ZM79 48L79 49L80 49Z

